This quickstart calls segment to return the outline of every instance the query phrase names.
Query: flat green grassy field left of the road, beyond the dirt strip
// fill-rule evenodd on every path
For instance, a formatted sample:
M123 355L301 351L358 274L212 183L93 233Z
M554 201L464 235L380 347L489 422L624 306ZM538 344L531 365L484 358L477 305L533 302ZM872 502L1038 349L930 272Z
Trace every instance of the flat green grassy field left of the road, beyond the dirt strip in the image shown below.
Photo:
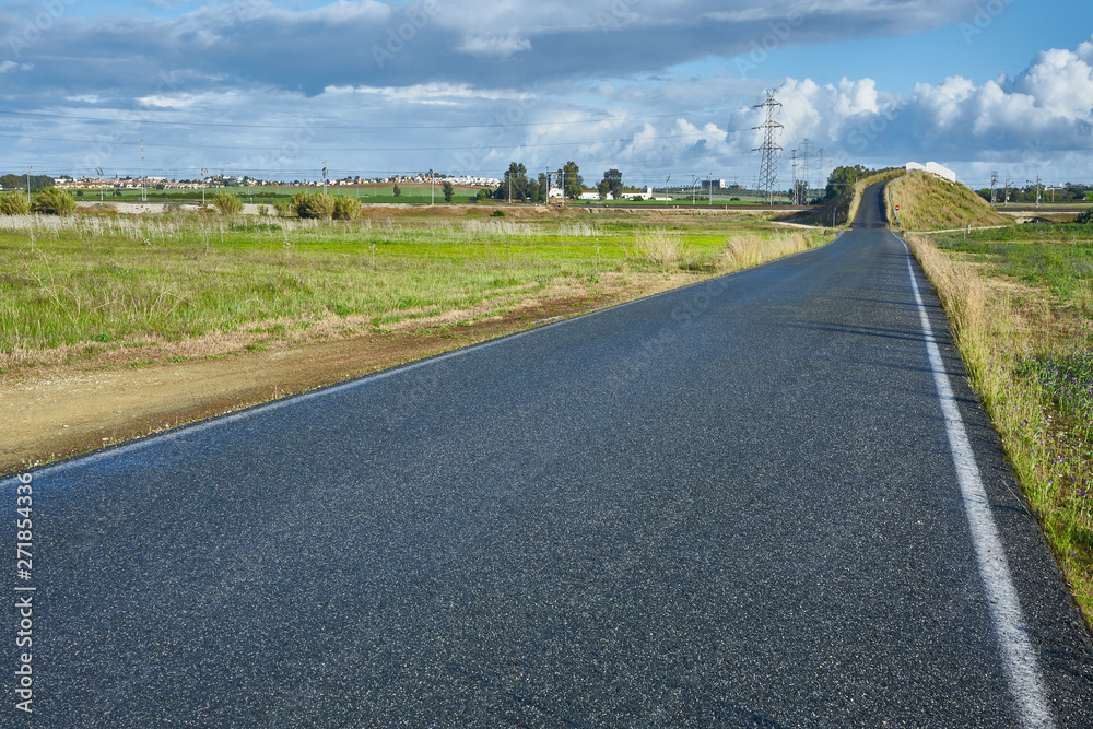
M568 291L700 281L827 239L682 212L0 217L0 372L118 350L145 362L142 349L171 342L457 327Z

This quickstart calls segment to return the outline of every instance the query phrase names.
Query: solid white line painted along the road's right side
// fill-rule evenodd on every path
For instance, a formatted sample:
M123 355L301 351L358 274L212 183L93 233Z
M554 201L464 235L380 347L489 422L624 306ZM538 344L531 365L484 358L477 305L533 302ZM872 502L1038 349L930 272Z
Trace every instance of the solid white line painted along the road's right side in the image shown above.
M904 246L906 245L904 243ZM941 351L933 338L933 328L930 326L926 305L922 303L922 296L918 290L909 248L907 250L907 271L910 273L910 286L915 292L918 314L922 320L922 332L926 334L930 368L933 371L938 400L945 419L945 430L949 432L949 446L952 449L956 479L964 497L964 513L972 531L972 541L975 543L979 576L983 578L987 603L990 605L990 614L995 622L995 632L1001 647L1002 667L1009 681L1010 693L1016 701L1018 716L1022 726L1054 727L1055 718L1044 691L1036 651L1025 632L1018 591L1010 577L1010 566L1006 560L1002 541L998 536L995 517L990 512L987 492L983 487L979 467L975 462L975 452L967 439L967 431L964 428L964 421L961 419L956 399L953 397L949 374L945 372Z

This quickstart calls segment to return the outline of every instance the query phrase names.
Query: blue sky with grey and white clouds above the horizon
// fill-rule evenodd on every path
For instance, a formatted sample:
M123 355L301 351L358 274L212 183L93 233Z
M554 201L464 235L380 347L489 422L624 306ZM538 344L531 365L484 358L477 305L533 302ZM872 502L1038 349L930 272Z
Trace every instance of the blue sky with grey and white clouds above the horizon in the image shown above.
M428 168L754 186L937 161L1093 183L1093 3L0 0L0 172L315 179ZM788 186L788 183L787 183Z

